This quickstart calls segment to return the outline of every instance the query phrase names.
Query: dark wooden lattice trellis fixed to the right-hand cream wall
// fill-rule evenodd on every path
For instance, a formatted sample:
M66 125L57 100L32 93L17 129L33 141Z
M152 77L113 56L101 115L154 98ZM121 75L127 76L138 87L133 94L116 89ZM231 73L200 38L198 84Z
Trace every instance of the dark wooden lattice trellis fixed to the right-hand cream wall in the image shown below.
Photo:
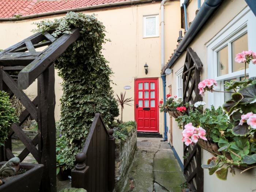
M196 52L192 48L188 48L182 74L183 103L189 102L193 104L197 101L202 101L198 89L202 67L203 64ZM188 109L188 113L189 110L193 109ZM203 192L204 173L201 167L201 147L197 144L193 146L184 144L184 156L187 154L189 154L189 157L184 159L184 176L192 192Z

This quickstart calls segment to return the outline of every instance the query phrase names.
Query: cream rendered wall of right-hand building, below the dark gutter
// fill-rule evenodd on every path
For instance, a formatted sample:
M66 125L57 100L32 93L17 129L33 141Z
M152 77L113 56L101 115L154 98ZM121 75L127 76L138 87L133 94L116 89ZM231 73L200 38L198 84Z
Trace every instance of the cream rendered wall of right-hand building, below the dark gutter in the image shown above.
M201 74L201 79L207 79L207 48L206 43L210 41L223 27L225 27L230 20L232 20L238 13L240 13L246 7L245 1L241 0L229 0L223 1L221 6L218 8L217 12L212 15L212 18L207 21L203 29L196 35L196 38L190 43L191 47L199 56L203 63L203 71ZM249 47L255 47L255 42L249 42ZM184 51L182 55L178 58L174 66L174 72L184 65L185 62ZM249 66L251 68L255 66ZM253 69L255 70L255 68ZM172 74L171 74L172 75ZM166 77L167 85L172 84L172 87L176 86L176 80L172 76ZM206 93L203 100L207 103L207 95L211 93ZM183 161L183 143L181 142L181 130L175 127L175 120L173 119L173 146L176 149L178 156L181 161ZM203 150L202 163L207 163L207 159L212 157L207 151ZM246 173L240 174L240 170L236 170L236 176L232 177L231 173L228 174L227 181L219 180L215 174L212 176L208 175L208 170L204 170L204 192L251 192L256 189L256 171L251 170Z

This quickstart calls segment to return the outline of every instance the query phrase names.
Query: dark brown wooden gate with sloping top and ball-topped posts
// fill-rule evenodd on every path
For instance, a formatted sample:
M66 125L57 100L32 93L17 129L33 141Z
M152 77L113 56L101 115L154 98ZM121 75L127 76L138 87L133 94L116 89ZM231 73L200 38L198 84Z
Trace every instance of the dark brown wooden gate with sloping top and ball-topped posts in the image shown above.
M76 166L72 170L72 187L84 188L88 192L113 191L115 183L115 139L113 129L107 131L99 113L81 153L76 155Z

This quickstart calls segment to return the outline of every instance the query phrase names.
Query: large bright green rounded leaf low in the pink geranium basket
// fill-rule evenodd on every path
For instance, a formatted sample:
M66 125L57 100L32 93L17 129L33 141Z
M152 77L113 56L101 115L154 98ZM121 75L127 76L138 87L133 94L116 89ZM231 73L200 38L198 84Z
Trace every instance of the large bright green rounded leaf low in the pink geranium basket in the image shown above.
M247 138L240 138L236 142L231 143L229 146L229 150L233 151L234 153L236 153L241 157L249 154L249 148L250 148L250 144ZM234 161L241 160L239 157L237 157L233 153L230 153L230 155Z

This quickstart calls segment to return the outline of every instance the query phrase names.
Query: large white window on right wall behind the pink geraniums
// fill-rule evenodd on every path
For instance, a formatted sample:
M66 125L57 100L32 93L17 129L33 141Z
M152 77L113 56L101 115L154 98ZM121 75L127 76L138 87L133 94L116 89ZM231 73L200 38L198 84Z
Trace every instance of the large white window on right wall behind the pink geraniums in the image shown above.
M224 83L230 80L244 78L244 63L236 63L234 58L243 50L256 52L254 42L256 18L249 7L241 11L207 44L208 79L215 79L217 91L225 91ZM256 67L253 64L246 66L246 75L256 76ZM230 93L208 93L208 107L222 105L231 98Z

